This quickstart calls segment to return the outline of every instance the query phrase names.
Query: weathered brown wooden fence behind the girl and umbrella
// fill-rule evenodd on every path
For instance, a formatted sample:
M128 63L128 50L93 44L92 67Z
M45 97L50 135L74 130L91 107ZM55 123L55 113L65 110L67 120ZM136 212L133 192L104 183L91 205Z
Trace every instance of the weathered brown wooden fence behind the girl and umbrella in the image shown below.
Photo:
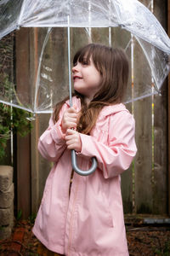
M150 8L150 0L141 1ZM154 14L167 29L167 1L154 1ZM21 28L16 33L16 84L17 90L30 90L35 86L38 60L42 49L42 38L46 30L41 28ZM128 84L128 94L133 95L139 85L150 81L150 70L142 49L137 41L131 41L130 33L120 28L93 28L88 31L93 42L111 44L113 47L127 45L127 54L132 56L132 76ZM46 51L52 60L53 80L59 84L59 98L68 95L66 86L67 52L66 29L56 28L50 35ZM71 54L82 45L88 43L86 32L81 28L71 29ZM130 42L130 44L128 44ZM132 55L133 44L133 55ZM58 52L55 49L59 49ZM58 56L56 54L59 54ZM50 64L51 65L51 64ZM58 78L59 70L64 76ZM32 85L33 84L33 85ZM168 212L168 162L167 162L167 82L164 83L162 96L150 96L142 100L128 103L127 108L136 120L136 143L138 153L131 167L122 174L122 198L124 212L128 214L167 215ZM15 186L17 209L21 209L23 218L31 212L37 212L42 191L51 164L43 160L37 152L37 140L48 127L49 114L38 114L33 121L31 135L17 137L17 153L15 164ZM16 174L17 173L17 174Z

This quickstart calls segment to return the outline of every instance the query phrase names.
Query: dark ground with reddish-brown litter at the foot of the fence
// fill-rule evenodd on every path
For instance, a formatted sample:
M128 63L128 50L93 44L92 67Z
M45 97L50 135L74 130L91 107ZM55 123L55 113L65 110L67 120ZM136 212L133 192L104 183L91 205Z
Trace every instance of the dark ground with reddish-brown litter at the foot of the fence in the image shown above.
M31 219L17 221L12 236L0 241L0 255L42 256L38 253L39 241L31 232L32 225ZM127 224L126 228L130 256L170 256L170 226Z

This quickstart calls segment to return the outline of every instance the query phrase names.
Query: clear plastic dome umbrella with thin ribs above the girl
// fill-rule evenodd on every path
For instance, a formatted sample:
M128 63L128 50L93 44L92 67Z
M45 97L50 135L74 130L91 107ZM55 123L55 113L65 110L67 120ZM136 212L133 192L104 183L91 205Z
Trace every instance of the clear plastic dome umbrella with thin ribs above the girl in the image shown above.
M90 38L91 27L120 27L122 33L133 35L148 61L154 86L140 84L134 91L133 99L127 94L126 102L160 93L161 85L169 73L170 40L161 24L149 9L137 0L1 0L0 38L9 32L24 27L46 27L41 55L37 68L37 81L28 93L18 94L11 85L6 93L0 88L0 102L23 108L31 113L52 113L58 101L58 91L50 74L54 72L45 58L49 38L54 27L85 27L85 37ZM70 36L68 36L69 84L71 97ZM128 44L125 45L126 50ZM59 49L58 49L59 50ZM59 74L60 75L60 74Z

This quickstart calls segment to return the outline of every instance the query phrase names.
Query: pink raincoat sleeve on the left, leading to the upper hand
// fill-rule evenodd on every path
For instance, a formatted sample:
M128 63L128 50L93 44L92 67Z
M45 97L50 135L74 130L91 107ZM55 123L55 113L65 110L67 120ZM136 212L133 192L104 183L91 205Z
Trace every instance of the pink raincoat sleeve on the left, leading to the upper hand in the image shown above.
M61 130L61 119L66 108L64 104L59 113L59 120L55 124L52 118L49 119L48 129L42 133L38 141L39 152L49 161L58 161L66 148L64 134Z

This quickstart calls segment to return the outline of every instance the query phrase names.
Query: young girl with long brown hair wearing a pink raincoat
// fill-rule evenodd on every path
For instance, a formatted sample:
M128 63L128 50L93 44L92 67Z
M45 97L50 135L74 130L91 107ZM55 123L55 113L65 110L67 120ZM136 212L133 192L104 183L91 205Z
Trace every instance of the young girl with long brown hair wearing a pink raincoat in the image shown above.
M33 232L62 255L127 256L120 175L136 154L134 119L122 104L127 56L122 49L88 44L73 64L73 108L60 102L39 140L40 153L54 166ZM82 170L95 156L96 171L72 172L70 149Z

